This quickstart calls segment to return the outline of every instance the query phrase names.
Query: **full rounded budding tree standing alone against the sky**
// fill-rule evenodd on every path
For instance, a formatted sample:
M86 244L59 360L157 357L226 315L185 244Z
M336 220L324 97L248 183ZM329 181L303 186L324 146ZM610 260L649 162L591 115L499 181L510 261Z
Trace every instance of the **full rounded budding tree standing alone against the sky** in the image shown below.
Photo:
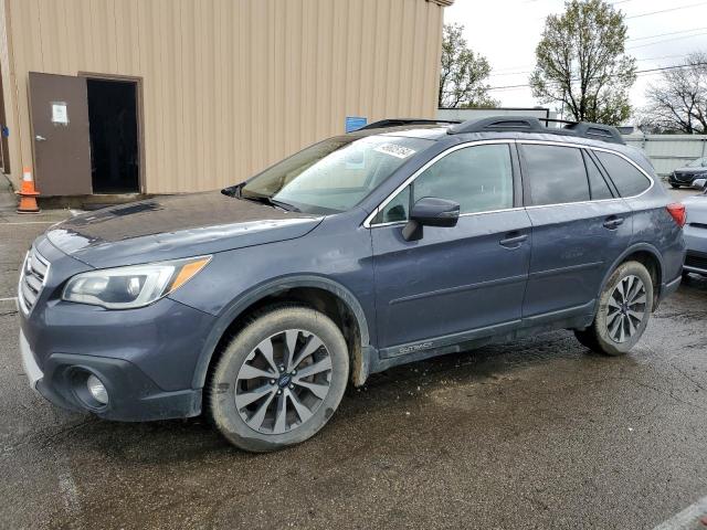
M620 125L631 116L636 61L626 55L623 13L602 0L569 0L551 14L536 49L532 95L577 120Z

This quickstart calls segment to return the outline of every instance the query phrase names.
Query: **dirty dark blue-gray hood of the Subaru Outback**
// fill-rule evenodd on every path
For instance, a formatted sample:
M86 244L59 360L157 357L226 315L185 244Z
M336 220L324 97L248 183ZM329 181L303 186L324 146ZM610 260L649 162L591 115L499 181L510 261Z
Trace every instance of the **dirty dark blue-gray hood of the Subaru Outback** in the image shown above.
M49 241L91 266L131 265L300 237L320 216L219 191L149 199L53 225Z

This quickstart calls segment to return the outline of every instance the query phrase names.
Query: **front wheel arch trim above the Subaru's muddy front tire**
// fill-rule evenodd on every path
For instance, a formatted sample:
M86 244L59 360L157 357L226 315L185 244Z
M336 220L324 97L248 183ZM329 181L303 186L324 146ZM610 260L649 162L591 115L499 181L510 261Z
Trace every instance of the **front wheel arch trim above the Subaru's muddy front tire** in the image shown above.
M238 331L253 310L278 301L299 301L320 310L339 326L349 347L350 381L361 385L369 373L370 331L366 312L356 296L345 286L324 276L287 276L260 285L239 296L219 315L201 350L192 386L202 389L214 354L230 335Z

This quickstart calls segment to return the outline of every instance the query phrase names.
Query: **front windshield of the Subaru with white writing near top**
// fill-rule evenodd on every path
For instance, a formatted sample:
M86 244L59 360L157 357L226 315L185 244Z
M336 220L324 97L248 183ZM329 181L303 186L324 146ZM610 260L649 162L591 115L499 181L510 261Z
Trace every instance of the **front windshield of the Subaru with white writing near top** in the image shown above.
M240 197L307 213L344 212L433 144L398 136L329 138L255 176Z

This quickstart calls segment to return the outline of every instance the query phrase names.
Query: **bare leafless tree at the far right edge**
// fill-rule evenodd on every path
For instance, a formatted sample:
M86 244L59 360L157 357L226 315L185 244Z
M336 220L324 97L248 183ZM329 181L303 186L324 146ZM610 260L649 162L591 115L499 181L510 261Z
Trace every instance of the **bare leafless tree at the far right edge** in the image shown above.
M648 85L640 124L661 132L707 134L707 54L690 54Z

